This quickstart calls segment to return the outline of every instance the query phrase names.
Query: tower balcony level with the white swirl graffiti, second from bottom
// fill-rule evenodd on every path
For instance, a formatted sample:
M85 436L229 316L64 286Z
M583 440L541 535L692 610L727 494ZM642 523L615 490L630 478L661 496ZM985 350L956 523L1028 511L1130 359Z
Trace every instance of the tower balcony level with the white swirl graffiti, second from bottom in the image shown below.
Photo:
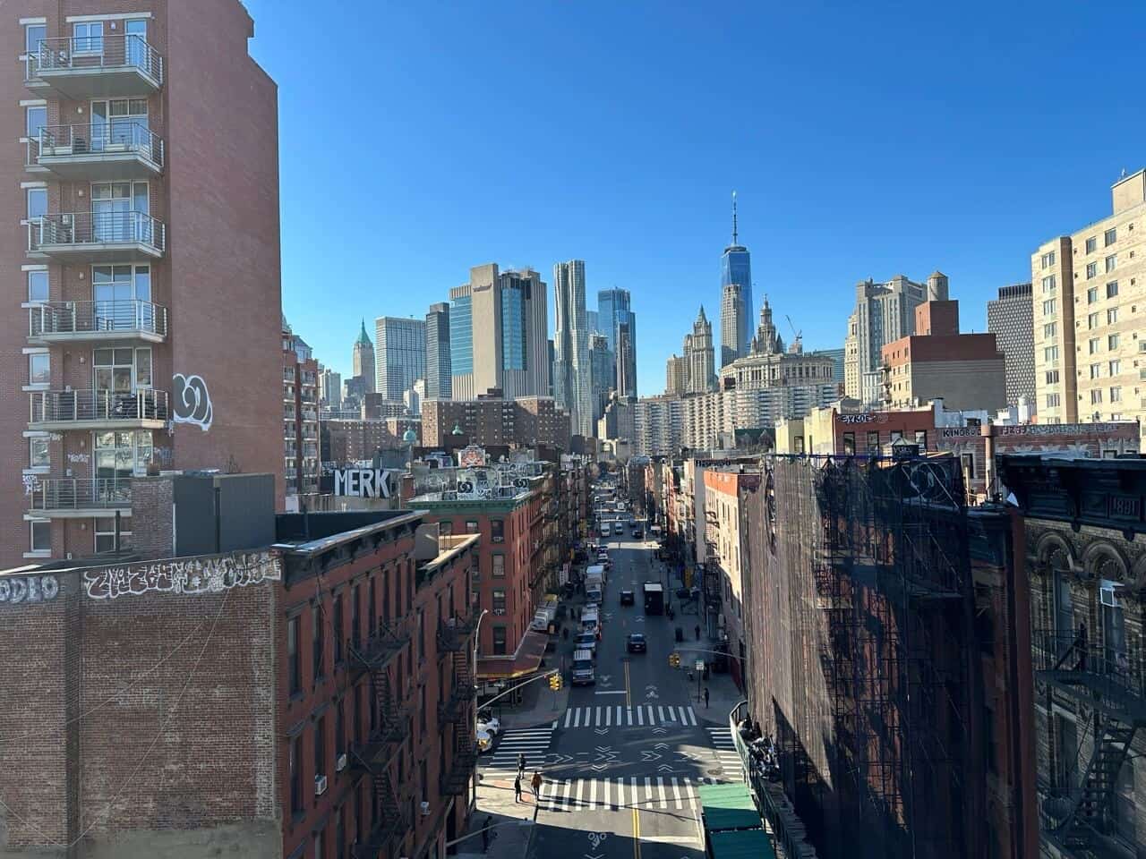
M29 430L163 430L170 417L166 391L33 391L29 399Z

